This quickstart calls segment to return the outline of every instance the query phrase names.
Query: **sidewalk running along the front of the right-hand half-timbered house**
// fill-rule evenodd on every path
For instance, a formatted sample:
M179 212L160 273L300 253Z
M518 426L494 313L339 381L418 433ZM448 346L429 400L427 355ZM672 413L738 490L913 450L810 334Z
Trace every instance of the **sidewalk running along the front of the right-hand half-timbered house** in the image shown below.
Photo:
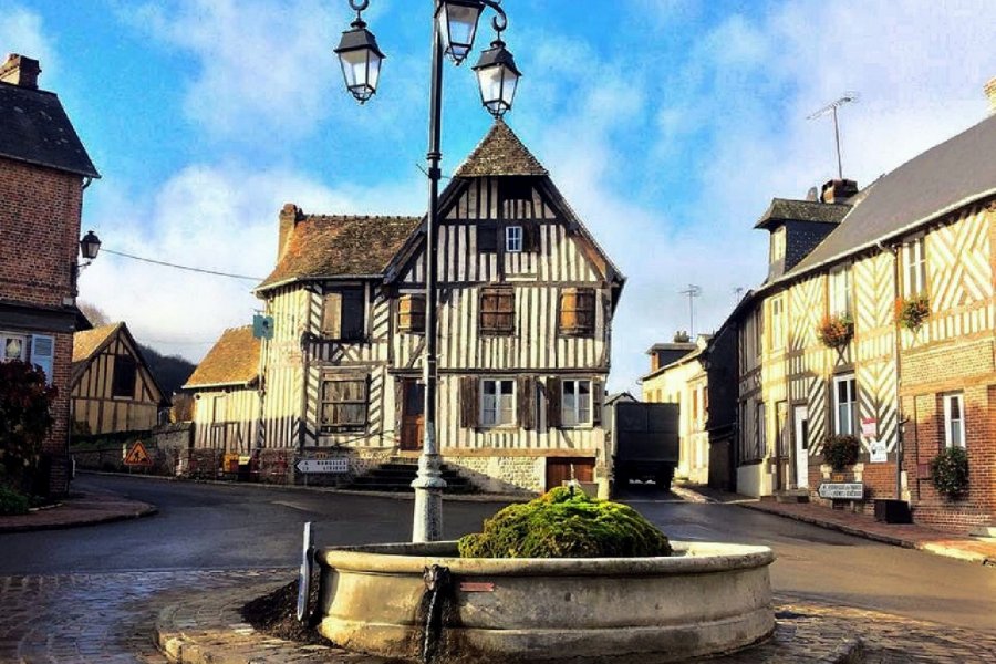
M996 566L996 541L958 536L915 523L883 523L869 515L834 510L812 502L762 502L757 498L702 486L675 487L675 492L697 502L735 504L886 544Z

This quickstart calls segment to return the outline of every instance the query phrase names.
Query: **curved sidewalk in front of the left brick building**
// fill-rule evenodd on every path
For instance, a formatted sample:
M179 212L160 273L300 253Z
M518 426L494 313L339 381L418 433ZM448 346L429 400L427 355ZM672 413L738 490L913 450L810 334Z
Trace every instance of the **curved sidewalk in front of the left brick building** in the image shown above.
M54 507L27 515L0 517L0 533L92 526L156 513L148 502L129 500L111 492L72 492Z

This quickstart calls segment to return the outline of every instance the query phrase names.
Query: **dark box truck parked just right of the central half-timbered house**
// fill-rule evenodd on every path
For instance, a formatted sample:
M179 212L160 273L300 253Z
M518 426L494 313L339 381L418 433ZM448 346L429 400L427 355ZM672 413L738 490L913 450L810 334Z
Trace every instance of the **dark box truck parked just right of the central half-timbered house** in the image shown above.
M678 404L615 401L605 419L616 487L633 479L671 489L678 464Z

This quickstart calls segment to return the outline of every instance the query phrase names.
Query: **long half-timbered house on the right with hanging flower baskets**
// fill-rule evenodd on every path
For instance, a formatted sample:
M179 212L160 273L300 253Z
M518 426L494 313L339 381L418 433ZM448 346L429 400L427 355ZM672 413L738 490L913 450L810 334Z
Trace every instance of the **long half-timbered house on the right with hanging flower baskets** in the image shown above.
M757 225L770 232L768 280L732 315L741 492L841 479L821 444L850 434L862 445L843 478L863 484L854 509L903 498L917 521L993 522L994 151L996 116L862 191L834 180L819 200L772 201ZM902 314L911 302L928 315ZM951 446L969 463L969 491L954 499L928 470Z

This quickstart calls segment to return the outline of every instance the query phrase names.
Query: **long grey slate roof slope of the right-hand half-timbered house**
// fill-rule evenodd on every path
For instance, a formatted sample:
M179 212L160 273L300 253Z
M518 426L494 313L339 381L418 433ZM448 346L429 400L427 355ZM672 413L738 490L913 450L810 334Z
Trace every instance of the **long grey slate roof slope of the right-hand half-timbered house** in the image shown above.
M996 115L879 178L840 226L782 279L872 247L996 194L994 155Z

